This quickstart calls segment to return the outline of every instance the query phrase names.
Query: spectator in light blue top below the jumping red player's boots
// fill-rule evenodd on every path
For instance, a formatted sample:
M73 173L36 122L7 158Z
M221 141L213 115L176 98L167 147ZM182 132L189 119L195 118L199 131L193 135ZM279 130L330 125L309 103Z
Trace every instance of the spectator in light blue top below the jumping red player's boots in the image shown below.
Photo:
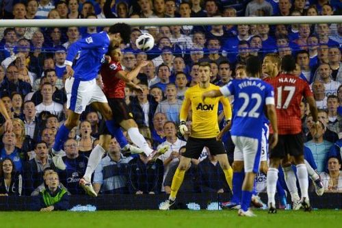
M96 193L123 194L128 193L128 163L132 157L124 157L120 153L120 145L116 138L109 143L107 156L103 157L94 173L93 186Z

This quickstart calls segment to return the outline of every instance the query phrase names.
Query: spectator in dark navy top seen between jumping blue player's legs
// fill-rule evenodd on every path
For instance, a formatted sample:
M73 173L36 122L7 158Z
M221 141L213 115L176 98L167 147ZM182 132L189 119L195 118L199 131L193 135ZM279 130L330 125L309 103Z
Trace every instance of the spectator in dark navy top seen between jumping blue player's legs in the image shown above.
M62 157L62 160L66 169L60 172L61 182L71 194L85 194L79 186L79 180L86 173L88 158L84 153L79 153L79 145L73 138L66 140L64 151L66 156Z

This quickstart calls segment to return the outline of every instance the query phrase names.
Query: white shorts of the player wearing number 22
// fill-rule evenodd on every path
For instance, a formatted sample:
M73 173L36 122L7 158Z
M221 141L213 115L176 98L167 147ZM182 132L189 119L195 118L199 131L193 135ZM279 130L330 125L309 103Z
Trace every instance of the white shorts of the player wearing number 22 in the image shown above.
M245 173L258 173L261 157L260 140L244 136L232 136L232 140L235 144L234 161L244 161Z

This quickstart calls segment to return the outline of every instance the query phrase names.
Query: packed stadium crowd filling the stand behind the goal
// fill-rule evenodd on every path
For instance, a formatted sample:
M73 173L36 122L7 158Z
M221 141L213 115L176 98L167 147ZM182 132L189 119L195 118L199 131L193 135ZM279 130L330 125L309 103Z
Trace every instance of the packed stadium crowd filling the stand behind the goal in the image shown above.
M341 14L341 1L337 0L27 0L6 1L1 6L1 18L23 19L23 23L25 19L40 18L157 20L161 17ZM129 47L121 47L121 64L125 71L132 71L144 60L148 65L133 80L135 88L125 88L125 102L151 147L168 145L170 149L159 159L148 161L144 155L124 156L112 138L107 155L93 175L97 193L169 193L179 156L189 137L177 134L179 112L187 88L198 84L199 64L209 62L211 83L224 86L238 77L239 71L244 71L248 56L256 55L262 62L269 53L278 53L280 58L293 55L298 64L296 74L310 84L319 108L319 121L324 126L311 135L313 120L303 101L306 160L319 173L326 192L342 192L342 24L236 26L228 22L229 18L227 25L133 27ZM50 189L56 179L60 179L63 194L85 194L79 179L98 143L101 125L104 125L101 114L88 107L78 127L70 131L64 144L64 170L60 169L60 161L53 160L51 147L58 127L68 115L64 89L68 47L106 29L8 27L0 32L0 97L13 123L12 131L5 132L2 127L0 132L0 196L37 195L47 186ZM135 45L137 37L144 32L155 38L155 47L147 53ZM97 82L103 86L101 75ZM225 123L222 108L218 115L222 128ZM4 126L5 121L0 116L0 125ZM191 125L189 119L188 128ZM222 140L232 162L234 146L229 134ZM265 191L265 175L259 174L257 183L259 192ZM204 149L199 160L192 160L180 192L228 191L218 160Z

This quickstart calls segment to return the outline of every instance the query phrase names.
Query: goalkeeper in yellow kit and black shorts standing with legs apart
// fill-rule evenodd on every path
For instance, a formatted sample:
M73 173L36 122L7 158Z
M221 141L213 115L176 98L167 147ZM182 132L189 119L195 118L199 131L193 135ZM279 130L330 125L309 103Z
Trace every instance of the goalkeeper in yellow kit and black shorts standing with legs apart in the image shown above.
M198 68L200 82L196 86L187 89L185 99L181 107L179 131L187 132L185 121L187 113L192 109L192 129L187 140L186 151L182 154L179 166L174 173L171 185L171 193L168 200L161 203L159 210L168 210L176 199L176 194L181 187L185 171L189 168L192 158L198 159L203 147L208 147L211 155L216 155L218 162L224 171L229 188L232 189L233 169L229 165L228 156L222 141L216 140L219 133L218 127L218 103L222 103L226 121L231 120L232 110L228 99L224 97L210 98L202 101L202 93L218 89L210 83L211 68L207 62L202 62Z

